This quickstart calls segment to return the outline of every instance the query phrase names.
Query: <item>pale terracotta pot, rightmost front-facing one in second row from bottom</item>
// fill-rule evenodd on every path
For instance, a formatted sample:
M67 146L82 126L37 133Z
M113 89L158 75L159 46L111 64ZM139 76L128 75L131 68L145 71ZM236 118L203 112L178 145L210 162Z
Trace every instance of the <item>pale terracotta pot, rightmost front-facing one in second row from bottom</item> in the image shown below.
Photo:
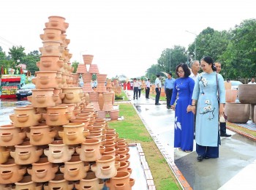
M104 155L96 161L96 164L91 165L91 170L95 172L97 178L113 178L120 167L120 162L115 160L115 156Z

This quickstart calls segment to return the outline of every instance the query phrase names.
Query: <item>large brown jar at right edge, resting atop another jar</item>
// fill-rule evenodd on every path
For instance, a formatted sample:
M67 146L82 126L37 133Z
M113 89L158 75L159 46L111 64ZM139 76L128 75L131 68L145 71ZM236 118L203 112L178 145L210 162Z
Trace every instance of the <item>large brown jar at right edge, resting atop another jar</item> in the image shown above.
M238 86L238 99L243 104L256 104L256 86L246 84Z

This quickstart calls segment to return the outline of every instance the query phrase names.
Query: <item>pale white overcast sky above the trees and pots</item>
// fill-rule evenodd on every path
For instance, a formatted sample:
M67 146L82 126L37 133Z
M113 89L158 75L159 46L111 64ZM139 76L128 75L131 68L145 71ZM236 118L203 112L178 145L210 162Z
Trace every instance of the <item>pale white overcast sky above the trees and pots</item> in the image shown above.
M252 0L2 0L0 46L12 45L26 53L39 50L48 17L58 15L69 23L72 61L94 55L101 74L108 77L146 74L165 48L188 47L207 27L229 30L255 18ZM191 33L189 33L189 32ZM192 34L193 33L193 34Z

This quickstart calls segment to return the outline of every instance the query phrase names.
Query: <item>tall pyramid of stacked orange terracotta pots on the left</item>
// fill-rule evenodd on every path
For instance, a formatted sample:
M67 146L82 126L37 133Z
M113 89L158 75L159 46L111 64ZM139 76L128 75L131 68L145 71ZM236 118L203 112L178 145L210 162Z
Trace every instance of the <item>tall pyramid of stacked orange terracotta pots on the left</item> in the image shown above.
M65 18L49 17L31 104L15 107L11 124L0 126L0 189L114 189L120 183L131 189L135 183L127 142L98 118L72 74L68 26Z

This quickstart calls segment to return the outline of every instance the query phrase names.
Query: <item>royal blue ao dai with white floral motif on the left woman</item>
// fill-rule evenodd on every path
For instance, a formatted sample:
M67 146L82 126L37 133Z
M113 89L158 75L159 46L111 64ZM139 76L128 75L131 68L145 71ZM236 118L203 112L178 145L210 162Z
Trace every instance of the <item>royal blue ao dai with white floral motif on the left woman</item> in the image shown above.
M194 85L195 81L191 77L176 79L170 101L170 105L176 101L174 147L183 151L193 150L194 115L192 112L187 113L187 107L192 103Z

